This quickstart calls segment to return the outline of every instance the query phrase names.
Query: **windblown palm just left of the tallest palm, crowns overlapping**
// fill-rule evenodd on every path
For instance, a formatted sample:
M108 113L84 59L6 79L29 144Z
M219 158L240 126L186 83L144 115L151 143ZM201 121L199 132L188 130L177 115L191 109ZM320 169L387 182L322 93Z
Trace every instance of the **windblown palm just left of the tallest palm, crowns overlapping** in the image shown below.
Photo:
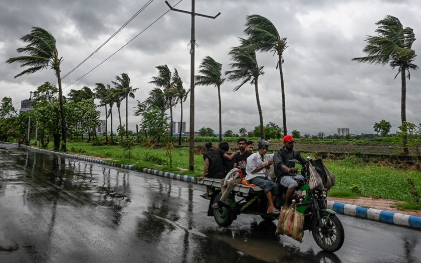
M228 53L234 63L229 65L233 70L227 71L225 74L228 75L228 80L230 81L242 80L240 85L234 88L234 91L238 91L249 81L250 84L255 85L257 108L260 119L260 138L263 139L263 114L262 107L260 106L258 79L260 75L265 73L263 72L263 66L259 67L257 64L256 51L250 47L245 39L240 38L240 41L241 45L239 47L231 48L231 51Z

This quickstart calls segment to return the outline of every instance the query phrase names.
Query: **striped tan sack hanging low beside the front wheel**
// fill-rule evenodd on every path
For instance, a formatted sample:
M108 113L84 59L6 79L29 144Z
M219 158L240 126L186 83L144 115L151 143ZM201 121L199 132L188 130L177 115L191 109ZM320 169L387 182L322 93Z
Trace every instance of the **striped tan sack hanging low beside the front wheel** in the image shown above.
M288 235L298 241L303 239L304 214L298 212L294 204L290 207L281 208L275 234Z

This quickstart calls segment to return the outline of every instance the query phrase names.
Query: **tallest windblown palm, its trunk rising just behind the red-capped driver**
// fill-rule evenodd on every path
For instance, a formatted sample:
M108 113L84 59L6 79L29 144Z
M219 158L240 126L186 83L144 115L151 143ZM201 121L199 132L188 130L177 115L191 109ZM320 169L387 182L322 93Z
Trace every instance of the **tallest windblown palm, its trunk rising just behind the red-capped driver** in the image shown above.
M246 17L246 29L244 32L248 36L248 41L254 46L256 51L273 52L278 55L277 68L281 75L281 94L282 94L282 122L284 136L287 135L287 118L285 114L285 87L284 74L282 72L282 63L284 63L283 53L287 46L287 39L279 36L278 30L270 20L259 15Z

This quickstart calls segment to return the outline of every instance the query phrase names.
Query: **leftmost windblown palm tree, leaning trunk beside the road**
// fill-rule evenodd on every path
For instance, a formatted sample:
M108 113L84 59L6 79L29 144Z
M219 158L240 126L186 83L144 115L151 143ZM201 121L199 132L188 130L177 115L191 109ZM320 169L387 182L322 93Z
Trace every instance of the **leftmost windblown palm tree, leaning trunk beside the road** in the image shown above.
M21 40L28 43L28 45L24 48L18 48L17 51L18 53L27 53L28 56L10 58L6 61L6 63L11 64L19 62L21 63L21 67L29 67L16 75L15 78L48 68L54 71L59 85L59 102L63 139L61 149L66 151L66 121L64 119L63 90L60 77L60 64L63 61L63 57L59 58L59 52L56 48L56 39L50 32L42 28L32 27L31 33L23 36Z

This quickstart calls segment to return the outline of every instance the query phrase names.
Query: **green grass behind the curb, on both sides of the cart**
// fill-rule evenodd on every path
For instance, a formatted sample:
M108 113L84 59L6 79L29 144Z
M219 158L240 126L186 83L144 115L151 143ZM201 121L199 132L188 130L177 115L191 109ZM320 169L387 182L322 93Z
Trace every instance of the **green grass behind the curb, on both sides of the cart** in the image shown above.
M92 143L68 142L67 148L77 154L108 157L121 163L135 164L136 168L153 167L193 176L198 176L203 171L202 155L194 156L193 172L176 169L177 167L188 169L188 148L184 147L173 150L172 169L167 166L169 161L165 149L150 149L137 145L132 149L131 159L126 159L127 153L117 145L92 146ZM336 192L340 196L353 192L360 196L410 202L412 201L411 187L406 182L406 178L413 179L416 189L418 192L421 191L421 172L395 169L382 166L380 163L364 161L355 156L349 156L343 160L324 160L326 166L336 176L336 184L331 189L332 194ZM154 164L163 166L157 167Z

